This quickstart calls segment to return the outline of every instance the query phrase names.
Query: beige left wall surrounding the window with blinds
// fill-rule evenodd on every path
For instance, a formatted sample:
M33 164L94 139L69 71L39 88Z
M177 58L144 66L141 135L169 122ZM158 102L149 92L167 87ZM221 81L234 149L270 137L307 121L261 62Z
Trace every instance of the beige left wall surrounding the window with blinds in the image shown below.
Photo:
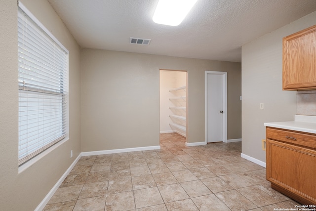
M46 0L22 2L70 51L70 139L18 173L17 1L1 0L0 210L3 211L33 211L80 153L79 45Z

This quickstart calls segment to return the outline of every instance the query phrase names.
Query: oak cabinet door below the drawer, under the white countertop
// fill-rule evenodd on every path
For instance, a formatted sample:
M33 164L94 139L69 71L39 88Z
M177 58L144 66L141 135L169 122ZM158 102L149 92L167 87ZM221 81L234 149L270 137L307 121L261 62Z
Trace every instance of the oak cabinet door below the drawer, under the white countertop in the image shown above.
M316 204L316 151L267 139L267 179L291 198Z

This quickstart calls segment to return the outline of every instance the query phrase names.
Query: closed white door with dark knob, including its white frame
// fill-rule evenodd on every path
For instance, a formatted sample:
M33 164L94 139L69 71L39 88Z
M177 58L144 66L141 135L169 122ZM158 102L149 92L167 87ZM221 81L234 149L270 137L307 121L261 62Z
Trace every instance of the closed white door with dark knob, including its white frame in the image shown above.
M226 140L226 72L205 74L206 143Z

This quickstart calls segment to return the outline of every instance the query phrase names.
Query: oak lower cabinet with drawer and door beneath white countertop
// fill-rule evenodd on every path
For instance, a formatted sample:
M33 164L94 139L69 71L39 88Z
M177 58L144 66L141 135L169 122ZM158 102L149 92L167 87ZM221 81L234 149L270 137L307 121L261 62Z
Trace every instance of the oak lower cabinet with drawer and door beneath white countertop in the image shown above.
M267 180L303 205L316 205L316 134L266 128Z

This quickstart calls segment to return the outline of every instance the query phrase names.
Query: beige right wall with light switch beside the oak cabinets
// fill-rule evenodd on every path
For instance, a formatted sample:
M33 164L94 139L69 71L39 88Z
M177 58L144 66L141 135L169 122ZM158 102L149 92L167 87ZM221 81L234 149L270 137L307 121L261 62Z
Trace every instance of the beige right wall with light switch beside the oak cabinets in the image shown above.
M282 38L315 24L313 12L242 46L243 154L265 162L264 123L294 120L296 91L282 91Z

